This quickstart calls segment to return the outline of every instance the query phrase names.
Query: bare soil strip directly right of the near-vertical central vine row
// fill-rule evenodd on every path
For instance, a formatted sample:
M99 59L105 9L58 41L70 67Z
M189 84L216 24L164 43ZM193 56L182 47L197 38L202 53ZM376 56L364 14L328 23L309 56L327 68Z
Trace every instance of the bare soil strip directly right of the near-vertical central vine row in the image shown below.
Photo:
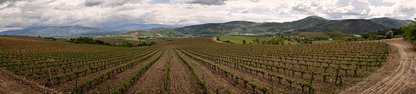
M169 68L168 94L202 94L203 87L173 49ZM166 52L169 54L169 52Z

